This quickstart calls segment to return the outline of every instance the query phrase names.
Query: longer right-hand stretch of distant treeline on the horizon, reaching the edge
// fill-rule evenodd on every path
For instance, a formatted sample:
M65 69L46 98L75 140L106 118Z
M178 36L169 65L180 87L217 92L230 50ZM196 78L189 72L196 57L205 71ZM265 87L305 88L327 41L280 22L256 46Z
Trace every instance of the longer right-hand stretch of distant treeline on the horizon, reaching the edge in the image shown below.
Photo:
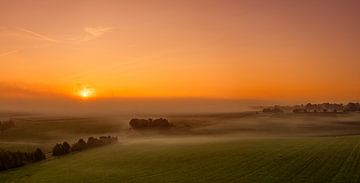
M311 104L308 103L306 105L297 105L294 106L293 112L301 113L301 112L356 112L360 111L359 103L348 103L344 104L330 104L330 103L322 103L322 104Z

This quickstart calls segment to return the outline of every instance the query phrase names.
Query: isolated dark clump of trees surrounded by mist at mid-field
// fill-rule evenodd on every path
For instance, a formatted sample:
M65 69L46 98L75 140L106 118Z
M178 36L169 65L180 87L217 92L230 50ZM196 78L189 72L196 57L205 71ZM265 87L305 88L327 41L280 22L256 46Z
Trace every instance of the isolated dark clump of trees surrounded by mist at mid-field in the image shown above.
M163 118L159 119L131 119L129 125L133 129L167 129L172 127L173 125L167 120Z

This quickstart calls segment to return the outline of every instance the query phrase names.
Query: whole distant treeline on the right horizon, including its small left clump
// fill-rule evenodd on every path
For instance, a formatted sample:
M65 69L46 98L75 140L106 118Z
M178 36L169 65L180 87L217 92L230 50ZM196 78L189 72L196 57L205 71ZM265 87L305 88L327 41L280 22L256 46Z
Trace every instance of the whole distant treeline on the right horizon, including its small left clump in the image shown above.
M343 113L343 112L357 112L360 111L360 103L350 102L346 105L336 103L322 103L322 104L311 104L306 105L295 105L295 106L269 106L263 107L264 113L282 113L282 112L294 112L294 113Z

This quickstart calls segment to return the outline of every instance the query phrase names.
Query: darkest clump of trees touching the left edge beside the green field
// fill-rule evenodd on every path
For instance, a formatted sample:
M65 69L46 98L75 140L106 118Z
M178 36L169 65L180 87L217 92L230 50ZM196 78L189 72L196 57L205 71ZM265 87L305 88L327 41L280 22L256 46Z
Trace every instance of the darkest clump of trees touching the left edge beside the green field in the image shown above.
M0 151L0 170L16 168L45 159L45 154L39 148L34 152Z

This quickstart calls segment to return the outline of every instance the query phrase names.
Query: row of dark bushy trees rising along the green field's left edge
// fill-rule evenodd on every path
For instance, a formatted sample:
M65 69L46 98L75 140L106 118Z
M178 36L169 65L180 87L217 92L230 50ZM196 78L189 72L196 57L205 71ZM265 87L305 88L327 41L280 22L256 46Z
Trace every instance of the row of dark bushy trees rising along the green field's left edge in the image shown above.
M58 143L54 146L52 150L52 155L61 156L61 155L69 154L70 152L82 151L85 149L104 146L117 142L118 142L118 138L111 136L101 136L99 138L89 137L87 142L85 142L83 139L79 139L72 146L70 146L70 144L67 142L63 142L62 144Z

